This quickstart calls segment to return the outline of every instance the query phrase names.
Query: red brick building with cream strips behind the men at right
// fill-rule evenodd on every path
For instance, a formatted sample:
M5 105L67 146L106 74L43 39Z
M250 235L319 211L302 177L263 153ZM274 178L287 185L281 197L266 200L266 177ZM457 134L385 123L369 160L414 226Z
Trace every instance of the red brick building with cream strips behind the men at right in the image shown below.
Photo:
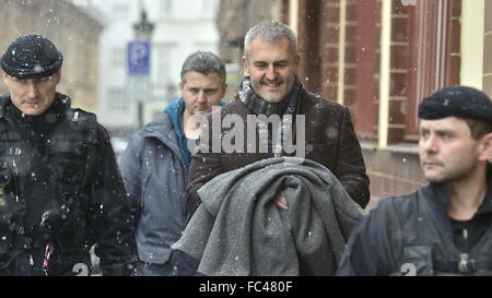
M233 2L247 11L263 1L222 0L221 8ZM303 83L351 110L371 178L368 207L426 183L417 145L425 95L464 84L492 96L492 0L278 0L270 9L277 12L251 20L291 25ZM219 15L223 52L242 50L250 24L231 43L224 28L235 19Z

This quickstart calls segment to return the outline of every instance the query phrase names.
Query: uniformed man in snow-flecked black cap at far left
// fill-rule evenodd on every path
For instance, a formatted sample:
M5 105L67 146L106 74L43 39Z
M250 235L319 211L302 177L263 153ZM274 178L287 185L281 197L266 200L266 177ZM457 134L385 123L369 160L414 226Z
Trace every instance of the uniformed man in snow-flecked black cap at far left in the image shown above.
M47 38L15 39L0 60L0 276L128 275L134 219L108 134L56 92L63 58Z

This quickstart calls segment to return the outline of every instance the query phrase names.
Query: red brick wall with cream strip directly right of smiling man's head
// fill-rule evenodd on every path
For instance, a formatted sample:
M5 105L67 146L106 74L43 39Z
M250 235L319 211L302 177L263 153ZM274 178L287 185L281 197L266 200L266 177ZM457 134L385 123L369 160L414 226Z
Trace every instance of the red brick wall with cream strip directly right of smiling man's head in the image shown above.
M360 136L375 141L380 2L300 0L298 8L303 83L325 98L348 106L356 116L352 120Z

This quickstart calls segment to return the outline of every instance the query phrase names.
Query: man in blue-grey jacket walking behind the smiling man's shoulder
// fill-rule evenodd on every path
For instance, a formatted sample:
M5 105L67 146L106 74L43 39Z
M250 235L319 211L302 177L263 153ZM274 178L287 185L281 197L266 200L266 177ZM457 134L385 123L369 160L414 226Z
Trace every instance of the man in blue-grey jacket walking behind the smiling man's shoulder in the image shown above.
M127 191L140 211L136 275L195 274L195 260L171 253L186 226L183 195L191 162L189 147L199 136L199 127L189 120L225 104L221 98L227 85L225 64L212 52L190 55L180 75L181 97L132 136L120 162Z

